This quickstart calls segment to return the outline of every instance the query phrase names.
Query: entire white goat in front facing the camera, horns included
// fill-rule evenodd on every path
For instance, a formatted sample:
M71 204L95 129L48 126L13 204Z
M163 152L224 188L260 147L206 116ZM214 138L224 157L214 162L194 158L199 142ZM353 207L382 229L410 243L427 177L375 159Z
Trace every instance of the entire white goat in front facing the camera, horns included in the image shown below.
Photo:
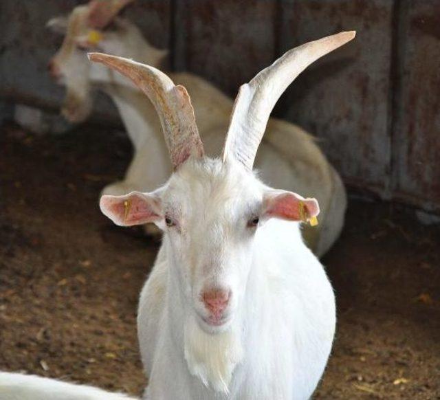
M305 400L314 392L336 323L330 282L300 235L300 222L316 218L318 202L266 186L252 166L281 93L353 37L342 32L292 49L243 85L221 159L204 155L184 87L153 67L91 54L154 104L174 169L153 192L100 201L117 225L164 230L137 318L149 378L144 399ZM14 379L21 379L18 391L37 378L0 374L2 399L17 399ZM79 398L75 386L65 388L64 397L49 397L42 383L32 399ZM83 398L103 398L89 390Z

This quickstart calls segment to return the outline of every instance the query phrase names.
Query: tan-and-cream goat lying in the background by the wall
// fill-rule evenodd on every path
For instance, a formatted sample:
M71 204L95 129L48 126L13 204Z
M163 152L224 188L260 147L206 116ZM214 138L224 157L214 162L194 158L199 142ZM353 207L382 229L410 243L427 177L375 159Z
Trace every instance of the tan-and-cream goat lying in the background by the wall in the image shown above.
M149 191L164 184L171 172L159 120L150 102L131 82L111 69L90 65L84 49L133 58L153 67L162 65L166 52L147 43L140 31L116 15L130 0L91 1L76 7L69 19L52 19L48 25L66 30L61 49L50 62L50 71L67 86L63 113L70 120L83 120L91 110L91 87L99 87L113 99L135 154L124 181L104 188L103 194L122 195L131 190ZM104 30L104 27L107 27ZM278 74L278 72L277 72ZM191 94L199 131L208 155L223 146L232 101L206 80L192 74L170 74ZM261 177L268 184L295 189L320 202L320 224L306 226L303 236L322 256L338 238L347 206L342 181L314 140L294 124L270 119L256 159Z

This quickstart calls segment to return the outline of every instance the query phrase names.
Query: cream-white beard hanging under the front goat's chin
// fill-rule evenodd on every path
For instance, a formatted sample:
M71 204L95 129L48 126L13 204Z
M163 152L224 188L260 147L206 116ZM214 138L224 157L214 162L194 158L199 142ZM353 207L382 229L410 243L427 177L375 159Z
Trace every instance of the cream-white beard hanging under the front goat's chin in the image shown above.
M185 359L191 375L217 392L229 393L232 373L243 358L239 329L210 335L204 332L193 316L185 323Z

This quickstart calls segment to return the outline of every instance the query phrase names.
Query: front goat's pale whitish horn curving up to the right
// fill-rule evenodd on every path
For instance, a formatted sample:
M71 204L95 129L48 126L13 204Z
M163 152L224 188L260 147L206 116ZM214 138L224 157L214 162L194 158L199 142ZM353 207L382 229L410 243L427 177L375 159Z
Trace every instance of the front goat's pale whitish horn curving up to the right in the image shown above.
M270 113L285 89L318 58L355 37L355 31L340 32L289 50L249 83L241 85L223 147L223 162L234 157L252 170Z

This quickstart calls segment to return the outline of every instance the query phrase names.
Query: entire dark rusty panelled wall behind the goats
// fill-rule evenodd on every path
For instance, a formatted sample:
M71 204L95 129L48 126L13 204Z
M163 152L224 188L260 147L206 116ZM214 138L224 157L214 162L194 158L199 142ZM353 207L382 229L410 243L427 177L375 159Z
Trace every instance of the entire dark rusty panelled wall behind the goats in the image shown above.
M58 41L44 23L78 3L1 1L3 96L58 104L62 91L45 73ZM440 212L439 0L138 0L126 14L170 48L173 69L230 96L285 50L357 30L305 71L274 113L314 133L350 186Z

